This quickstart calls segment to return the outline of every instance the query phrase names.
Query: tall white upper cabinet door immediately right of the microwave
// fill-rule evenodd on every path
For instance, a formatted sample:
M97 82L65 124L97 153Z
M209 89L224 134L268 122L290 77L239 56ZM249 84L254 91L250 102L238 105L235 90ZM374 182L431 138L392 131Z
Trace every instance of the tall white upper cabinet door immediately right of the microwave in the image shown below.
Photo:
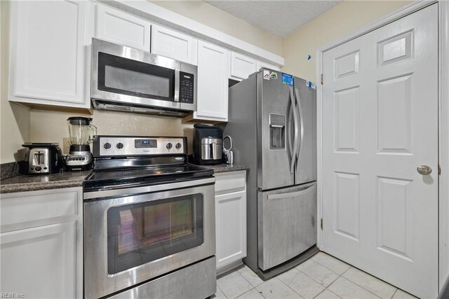
M228 50L198 42L198 97L194 118L227 121Z

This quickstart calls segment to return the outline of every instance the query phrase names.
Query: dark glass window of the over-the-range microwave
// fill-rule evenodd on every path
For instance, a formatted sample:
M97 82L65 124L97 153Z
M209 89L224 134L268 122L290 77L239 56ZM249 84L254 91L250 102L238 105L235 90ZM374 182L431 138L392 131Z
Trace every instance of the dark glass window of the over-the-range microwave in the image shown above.
M175 71L99 52L98 90L173 102Z

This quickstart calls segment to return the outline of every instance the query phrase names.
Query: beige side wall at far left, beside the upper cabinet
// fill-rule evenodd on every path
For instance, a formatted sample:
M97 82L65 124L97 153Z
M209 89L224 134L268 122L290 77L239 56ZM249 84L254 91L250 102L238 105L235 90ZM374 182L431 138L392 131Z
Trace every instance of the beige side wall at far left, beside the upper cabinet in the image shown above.
M29 110L8 102L8 2L0 1L0 164L14 162L29 138Z

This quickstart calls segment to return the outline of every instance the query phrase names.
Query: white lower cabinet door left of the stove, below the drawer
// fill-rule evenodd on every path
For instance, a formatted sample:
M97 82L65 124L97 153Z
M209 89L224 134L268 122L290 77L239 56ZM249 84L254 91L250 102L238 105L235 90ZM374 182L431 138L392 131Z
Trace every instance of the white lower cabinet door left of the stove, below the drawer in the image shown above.
M2 292L76 298L76 221L5 232L0 239Z

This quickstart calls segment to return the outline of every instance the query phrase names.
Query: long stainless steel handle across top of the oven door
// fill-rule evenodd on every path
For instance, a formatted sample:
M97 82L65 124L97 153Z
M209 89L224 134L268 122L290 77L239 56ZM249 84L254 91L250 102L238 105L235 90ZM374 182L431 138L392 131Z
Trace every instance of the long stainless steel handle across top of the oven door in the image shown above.
M154 185L154 186L143 186L143 187L133 187L133 188L120 188L120 189L113 189L113 190L98 190L93 192L84 192L83 193L83 199L84 200L91 200L93 198L100 198L100 197L117 197L117 196L130 196L130 195L136 195L140 193L153 193L163 190L172 190L172 189L179 189L179 188L190 188L194 186L201 186L201 185L209 185L215 183L215 177L211 177L208 179L194 179L192 181L181 181L177 183L164 183L161 185Z

